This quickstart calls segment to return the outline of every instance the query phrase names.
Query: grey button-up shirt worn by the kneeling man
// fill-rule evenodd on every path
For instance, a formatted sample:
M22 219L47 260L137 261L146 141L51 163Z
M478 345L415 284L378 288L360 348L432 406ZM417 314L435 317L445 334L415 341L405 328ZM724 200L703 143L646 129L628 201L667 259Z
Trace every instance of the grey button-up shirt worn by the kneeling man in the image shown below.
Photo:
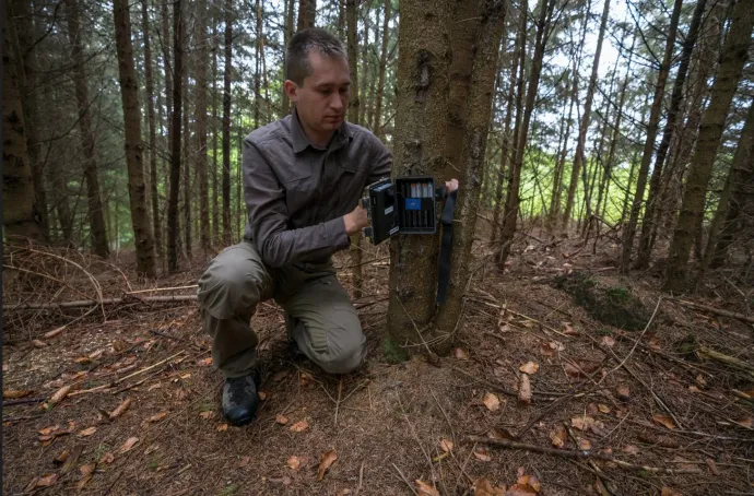
M295 111L252 131L243 161L245 237L272 268L323 262L347 248L342 216L392 165L377 137L345 121L326 149L314 146Z

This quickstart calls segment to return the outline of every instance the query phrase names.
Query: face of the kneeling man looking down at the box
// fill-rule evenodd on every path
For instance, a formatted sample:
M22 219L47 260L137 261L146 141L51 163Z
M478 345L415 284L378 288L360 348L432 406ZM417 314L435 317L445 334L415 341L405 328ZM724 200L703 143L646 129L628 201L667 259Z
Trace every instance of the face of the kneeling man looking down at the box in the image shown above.
M296 104L304 127L310 132L327 134L340 127L349 109L349 62L344 57L328 57L310 50L309 66L311 74L304 79L304 84L298 86L287 80L285 91Z

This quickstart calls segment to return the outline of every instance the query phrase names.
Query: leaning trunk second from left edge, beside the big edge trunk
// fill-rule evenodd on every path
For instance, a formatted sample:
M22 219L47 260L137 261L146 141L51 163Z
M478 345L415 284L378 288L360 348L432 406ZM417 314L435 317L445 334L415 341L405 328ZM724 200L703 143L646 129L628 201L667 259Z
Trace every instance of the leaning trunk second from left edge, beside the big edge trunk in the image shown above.
M68 36L71 43L71 59L74 64L73 84L79 104L79 128L81 130L81 147L84 155L84 178L86 180L86 199L90 215L90 236L94 252L99 257L107 257L110 249L107 245L107 226L102 211L99 193L99 178L94 151L94 131L90 115L89 88L86 87L86 72L84 70L83 44L79 28L79 2L66 0L68 10Z

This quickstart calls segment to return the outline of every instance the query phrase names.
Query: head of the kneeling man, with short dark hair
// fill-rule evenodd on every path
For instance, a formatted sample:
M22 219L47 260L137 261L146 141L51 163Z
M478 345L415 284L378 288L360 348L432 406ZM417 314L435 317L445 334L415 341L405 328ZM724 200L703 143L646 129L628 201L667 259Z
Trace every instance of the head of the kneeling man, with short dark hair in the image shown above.
M291 39L285 93L296 104L310 139L327 139L349 108L351 75L343 44L325 29L304 29Z

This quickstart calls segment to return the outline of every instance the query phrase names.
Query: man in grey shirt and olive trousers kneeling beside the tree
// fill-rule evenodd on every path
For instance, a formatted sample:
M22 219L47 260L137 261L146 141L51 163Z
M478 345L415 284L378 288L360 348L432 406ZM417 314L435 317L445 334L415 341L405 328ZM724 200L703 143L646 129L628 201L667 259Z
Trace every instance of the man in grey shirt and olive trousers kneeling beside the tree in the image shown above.
M364 359L358 315L330 256L368 225L358 200L367 184L390 175L390 152L344 121L351 80L339 39L318 28L297 33L285 76L293 114L244 141L244 240L199 280L212 358L225 376L223 413L234 425L257 411L258 339L249 320L259 302L283 307L288 338L322 369L345 374Z

